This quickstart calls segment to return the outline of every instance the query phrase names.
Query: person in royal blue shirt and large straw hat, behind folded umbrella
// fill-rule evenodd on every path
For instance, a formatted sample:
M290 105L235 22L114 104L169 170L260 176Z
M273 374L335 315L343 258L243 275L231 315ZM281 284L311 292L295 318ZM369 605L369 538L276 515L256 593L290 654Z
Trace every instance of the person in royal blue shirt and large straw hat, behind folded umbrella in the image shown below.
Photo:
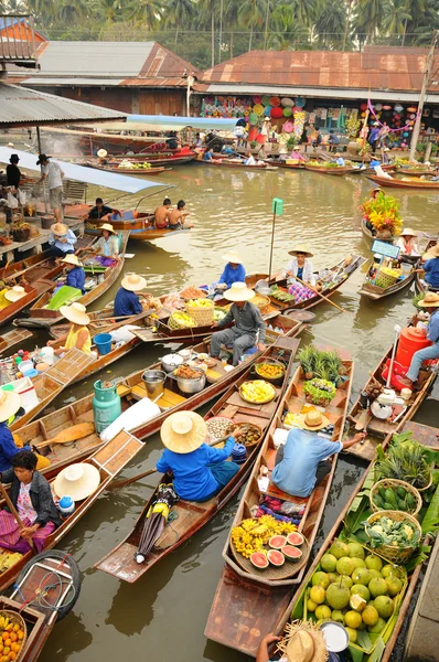
M232 455L239 430L234 430L223 448L205 444L208 434L204 418L195 412L176 412L163 421L160 437L165 450L156 467L172 472L173 487L180 499L208 501L239 470L236 462L226 461Z

